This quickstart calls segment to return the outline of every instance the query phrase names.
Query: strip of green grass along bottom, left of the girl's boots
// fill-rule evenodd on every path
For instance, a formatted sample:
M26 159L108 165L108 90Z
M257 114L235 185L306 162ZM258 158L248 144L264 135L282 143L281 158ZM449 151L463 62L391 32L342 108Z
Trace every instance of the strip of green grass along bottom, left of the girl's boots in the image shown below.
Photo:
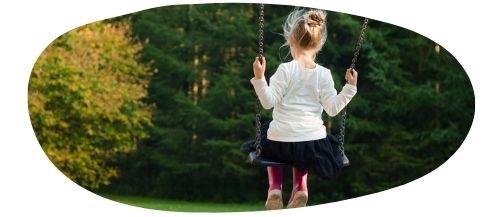
M264 201L259 203L209 203L209 202L189 202L161 198L149 198L139 196L120 196L111 194L101 194L100 196L142 208L177 211L177 212L241 212L241 211L261 211L264 210Z

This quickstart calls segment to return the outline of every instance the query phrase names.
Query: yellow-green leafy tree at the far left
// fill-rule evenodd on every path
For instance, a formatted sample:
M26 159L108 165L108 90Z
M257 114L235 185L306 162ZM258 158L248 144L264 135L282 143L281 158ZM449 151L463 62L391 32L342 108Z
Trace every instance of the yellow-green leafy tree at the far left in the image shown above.
M130 23L96 22L46 48L29 82L29 113L50 160L80 185L98 189L118 176L116 156L148 136L151 75L137 61L142 49Z

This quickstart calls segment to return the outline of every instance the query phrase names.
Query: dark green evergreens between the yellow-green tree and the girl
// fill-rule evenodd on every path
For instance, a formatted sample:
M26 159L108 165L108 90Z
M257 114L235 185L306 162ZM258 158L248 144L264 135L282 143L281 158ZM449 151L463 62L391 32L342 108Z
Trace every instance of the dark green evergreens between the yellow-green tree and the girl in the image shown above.
M122 161L128 179L120 186L213 200L225 197L214 194L222 186L231 196L239 184L257 188L259 182L246 179L257 172L238 151L254 132L248 80L255 19L253 7L241 4L171 6L133 16L134 34L148 41L142 60L158 69L149 87L157 107L150 138ZM201 191L191 188L198 182Z

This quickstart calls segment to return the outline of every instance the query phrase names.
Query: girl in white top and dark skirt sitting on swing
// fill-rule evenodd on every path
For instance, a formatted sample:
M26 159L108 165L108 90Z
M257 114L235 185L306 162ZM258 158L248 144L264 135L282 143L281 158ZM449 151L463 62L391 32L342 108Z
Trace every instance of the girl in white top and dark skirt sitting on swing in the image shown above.
M266 138L261 142L262 155L293 166L287 208L306 206L308 171L331 178L342 166L327 136L322 112L337 115L357 92L356 71L347 70L347 84L337 94L330 70L315 62L327 38L325 18L324 11L313 9L296 9L289 14L283 26L284 46L289 46L293 60L278 66L270 85L264 77L265 58L256 57L253 63L254 78L250 82L262 107L274 108L273 120L262 132ZM269 166L267 170L265 207L281 209L282 168Z

